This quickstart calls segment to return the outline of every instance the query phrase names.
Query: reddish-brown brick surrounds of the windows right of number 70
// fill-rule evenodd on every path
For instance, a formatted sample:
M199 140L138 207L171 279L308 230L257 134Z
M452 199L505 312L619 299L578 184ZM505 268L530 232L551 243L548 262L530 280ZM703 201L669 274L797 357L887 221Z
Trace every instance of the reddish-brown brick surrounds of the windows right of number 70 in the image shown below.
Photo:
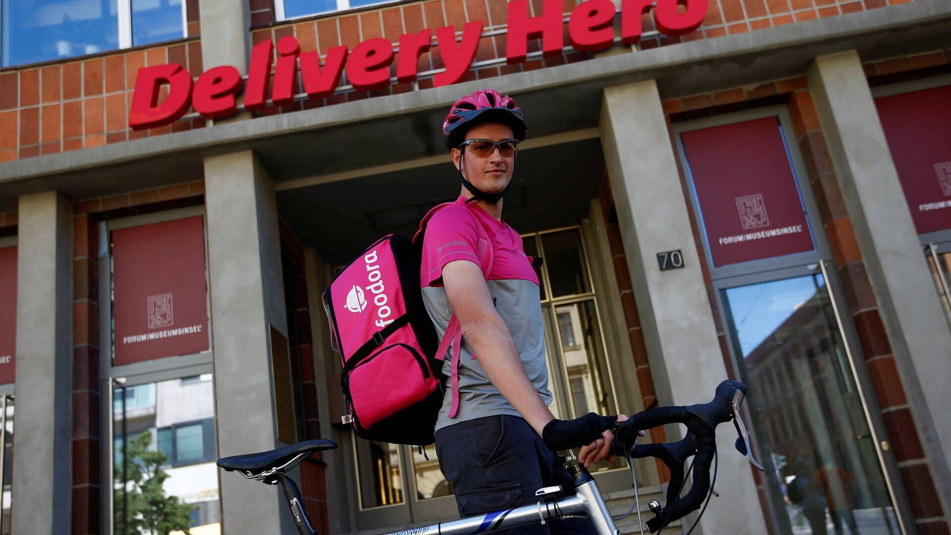
M902 76L915 78L934 73L935 68L951 67L951 50L937 50L909 57L900 57L873 62L864 66L872 76L891 76L890 82ZM899 76L895 76L899 75ZM842 192L828 157L825 133L809 94L805 76L777 80L756 86L724 89L700 95L689 95L663 102L672 121L687 120L698 116L737 109L754 108L778 102L786 103L793 127L795 142L803 154L812 193L819 207L826 237L833 251L834 262L845 289L848 311L859 335L862 356L875 396L882 408L882 418L887 439L898 462L904 491L911 503L912 514L919 532L923 534L947 534L946 512L942 510L938 490L931 477L929 462L924 455L921 439L905 397L901 374L895 366L894 355L884 330L879 306L865 272L862 254L852 230L851 219L844 207ZM672 135L672 133L671 133ZM689 196L686 179L681 173L685 200ZM692 210L691 210L692 211ZM701 244L700 233L691 213L694 237ZM704 258L702 247L698 247ZM922 258L923 262L923 258ZM705 279L708 280L707 263L702 263ZM709 291L710 307L717 322L718 335L724 351L725 362L731 369L723 326L720 325L719 300ZM735 373L735 371L733 371ZM759 474L753 472L763 494Z

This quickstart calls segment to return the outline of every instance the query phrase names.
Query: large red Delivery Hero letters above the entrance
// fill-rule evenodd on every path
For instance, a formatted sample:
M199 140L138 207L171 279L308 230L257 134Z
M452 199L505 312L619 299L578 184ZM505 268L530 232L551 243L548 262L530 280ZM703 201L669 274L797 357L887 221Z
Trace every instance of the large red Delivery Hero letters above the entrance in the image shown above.
M653 9L657 30L665 35L684 35L696 30L707 15L707 0L622 0L621 40L633 44L641 38L642 15ZM683 8L681 8L683 6ZM508 63L525 61L528 41L541 39L544 55L557 55L564 47L562 0L544 0L541 14L529 16L529 0L508 4L508 35L505 57ZM587 0L572 10L568 36L575 50L593 52L613 45L615 15L611 0ZM470 22L462 28L456 41L456 28L438 28L436 46L446 69L433 76L433 86L448 86L462 80L472 68L482 33L482 21ZM301 84L308 98L331 96L346 70L347 81L354 89L365 91L390 84L390 66L397 63L398 83L417 79L418 58L433 42L433 30L405 33L399 36L398 52L388 39L368 39L348 50L333 47L318 51L301 51L297 39L286 36L278 41L277 65L274 43L259 43L251 51L247 79L232 66L205 70L198 80L181 65L169 63L139 69L128 125L132 129L161 127L179 120L192 107L209 119L227 117L238 112L237 95L243 91L244 109L254 111L270 100L276 106L294 101L295 73L300 70ZM487 37L489 38L489 37ZM162 89L168 94L162 100ZM162 100L162 102L160 102Z

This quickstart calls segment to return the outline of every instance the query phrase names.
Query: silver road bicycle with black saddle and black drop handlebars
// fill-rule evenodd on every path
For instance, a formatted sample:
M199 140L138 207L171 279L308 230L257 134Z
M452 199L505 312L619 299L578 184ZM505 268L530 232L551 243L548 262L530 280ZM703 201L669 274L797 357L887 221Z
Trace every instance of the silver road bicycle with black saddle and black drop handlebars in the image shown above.
M716 426L732 421L738 435L735 443L736 449L746 456L753 466L763 471L763 466L753 459L750 452L747 427L740 416L740 406L746 394L746 385L737 381L724 381L716 387L713 400L709 403L649 408L634 414L624 422L618 423L614 427L616 439L611 448L612 451L623 455L628 460L634 478L635 492L634 504L631 505L631 510L618 519L611 517L608 506L605 505L594 478L584 466L578 463L573 451L568 449L557 453L562 458L565 469L573 476L575 485L573 496L559 499L558 495L562 488L560 486L547 486L535 491L535 496L542 498L542 501L535 504L521 505L433 525L422 525L389 535L422 535L429 532L438 535L476 535L536 522L544 524L551 520L576 517L582 514L591 519L597 535L619 535L620 531L614 525L614 520L620 520L630 515L635 507L637 508L638 518L640 518L637 476L634 473L631 458L647 456L656 457L663 461L670 468L671 475L666 496L667 504L660 505L655 500L650 501L650 511L654 516L647 523L641 523L641 532L643 533L644 525L647 525L650 533L657 532L671 522L697 510L700 508L701 502L704 502L700 515L697 516L696 521L690 527L690 531L692 531L693 527L700 521L700 516L703 516L707 509L710 496L716 492L713 490L718 464L716 462ZM687 426L688 432L685 438L679 442L667 444L636 444L637 431L666 424ZM307 455L335 447L337 445L328 440L310 440L262 453L225 457L218 461L218 466L226 471L238 471L247 479L262 481L267 485L278 485L280 483L287 499L287 505L294 515L298 531L301 535L316 535L310 518L302 506L301 492L297 484L285 476L284 473L296 466ZM690 456L693 456L693 461L685 471L684 464ZM714 462L712 481L709 475L711 461ZM687 494L681 496L680 492L686 482L686 476L691 470L693 483ZM704 500L705 495L706 502Z

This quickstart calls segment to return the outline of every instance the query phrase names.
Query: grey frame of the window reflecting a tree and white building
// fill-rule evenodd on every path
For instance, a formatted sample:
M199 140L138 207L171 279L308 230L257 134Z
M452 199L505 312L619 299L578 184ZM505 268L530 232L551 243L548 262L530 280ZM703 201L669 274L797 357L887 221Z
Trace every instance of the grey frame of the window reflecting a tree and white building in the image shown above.
M2 0L0 0L2 1ZM129 0L126 0L129 1ZM183 0L184 4L184 0ZM188 217L201 216L203 222L204 238L204 277L205 277L205 306L208 313L208 349L199 353L189 355L179 355L164 357L160 359L138 362L122 366L113 366L112 364L112 268L111 268L111 241L109 233L113 230L123 228L141 227L155 223L165 223ZM99 223L99 250L96 253L96 261L105 268L99 270L99 369L100 369L100 406L101 418L103 422L104 446L101 450L100 474L103 482L107 485L101 485L101 523L103 532L107 535L114 533L113 525L113 484L112 484L112 466L113 443L115 440L114 413L112 398L115 395L116 388L128 386L140 386L148 383L160 383L163 381L184 379L187 377L212 374L214 381L214 341L211 338L211 292L210 281L208 280L208 225L207 217L204 213L204 204L194 207L177 208L165 211L152 212L142 215L106 220ZM107 264L103 264L106 262ZM107 304L107 305L106 305ZM212 426L215 427L215 451L218 451L218 433L217 412L212 417ZM164 427L163 427L164 428ZM158 429L156 427L156 443L158 442ZM182 465L185 466L185 465ZM221 487L219 484L218 507L219 518L221 518Z

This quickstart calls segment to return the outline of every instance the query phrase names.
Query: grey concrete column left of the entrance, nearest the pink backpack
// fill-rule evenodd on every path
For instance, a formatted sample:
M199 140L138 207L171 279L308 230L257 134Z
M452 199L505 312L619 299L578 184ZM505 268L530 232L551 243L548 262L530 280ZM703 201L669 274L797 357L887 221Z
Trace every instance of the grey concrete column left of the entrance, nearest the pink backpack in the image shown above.
M270 328L287 333L274 183L250 150L204 160L215 406L221 457L277 439ZM221 471L224 529L296 532L274 486Z

